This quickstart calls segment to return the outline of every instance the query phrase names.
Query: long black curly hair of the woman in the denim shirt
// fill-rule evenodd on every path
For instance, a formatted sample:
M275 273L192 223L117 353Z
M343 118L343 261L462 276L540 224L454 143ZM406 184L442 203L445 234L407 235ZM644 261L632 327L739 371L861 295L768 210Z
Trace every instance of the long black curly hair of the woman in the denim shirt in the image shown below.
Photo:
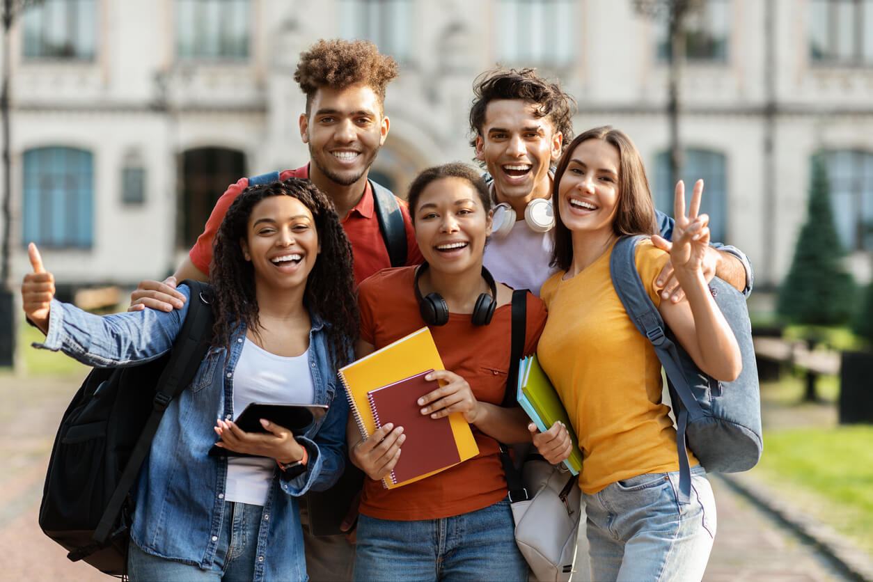
M352 245L336 216L333 202L311 181L298 178L245 188L230 204L212 245L210 284L215 293L214 345L230 349L230 335L240 323L255 332L258 330L254 267L245 260L239 242L247 239L252 209L272 196L296 198L313 214L321 252L306 280L303 301L325 322L333 366L344 366L360 326Z

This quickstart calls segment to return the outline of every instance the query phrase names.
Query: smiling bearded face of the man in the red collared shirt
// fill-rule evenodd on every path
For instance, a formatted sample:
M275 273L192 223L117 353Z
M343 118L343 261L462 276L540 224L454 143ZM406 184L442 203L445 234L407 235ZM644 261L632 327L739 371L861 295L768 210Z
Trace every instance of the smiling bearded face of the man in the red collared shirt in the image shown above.
M310 113L300 115L300 137L309 146L310 178L320 176L340 186L366 177L388 135L388 118L373 89L352 85L341 89L320 87Z

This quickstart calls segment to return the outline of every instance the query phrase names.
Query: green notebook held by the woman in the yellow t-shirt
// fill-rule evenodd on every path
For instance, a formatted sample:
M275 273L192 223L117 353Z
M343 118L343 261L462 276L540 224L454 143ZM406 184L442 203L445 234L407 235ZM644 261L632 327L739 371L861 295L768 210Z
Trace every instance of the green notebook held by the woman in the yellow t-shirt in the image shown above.
M540 429L540 432L546 432L552 428L554 421L564 423L570 433L570 440L573 441L573 450L570 452L570 456L564 460L564 465L574 475L578 475L582 469L582 452L579 449L579 440L576 438L573 425L570 424L570 419L567 417L567 411L564 409L558 393L555 392L552 381L548 379L540 367L540 360L537 359L536 354L527 356L519 363L519 393L516 398L530 419Z

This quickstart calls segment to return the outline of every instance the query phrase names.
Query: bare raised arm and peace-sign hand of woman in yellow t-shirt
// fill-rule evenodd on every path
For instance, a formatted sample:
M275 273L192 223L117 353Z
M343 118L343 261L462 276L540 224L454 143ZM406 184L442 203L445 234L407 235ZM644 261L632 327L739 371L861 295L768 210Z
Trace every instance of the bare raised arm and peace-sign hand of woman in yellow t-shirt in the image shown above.
M718 380L731 381L739 376L742 358L737 339L712 298L704 276L709 217L698 216L703 187L700 180L694 185L685 216L684 183L677 184L677 218L670 261L685 298L679 303L661 301L658 311L701 370Z

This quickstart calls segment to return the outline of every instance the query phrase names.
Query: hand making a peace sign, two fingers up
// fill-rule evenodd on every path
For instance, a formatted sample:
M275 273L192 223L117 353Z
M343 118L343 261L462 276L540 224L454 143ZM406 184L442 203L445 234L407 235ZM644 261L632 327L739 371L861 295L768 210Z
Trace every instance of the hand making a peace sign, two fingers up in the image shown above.
M685 277L689 277L695 271L702 272L703 270L706 249L709 247L710 240L709 216L698 214L703 191L704 181L696 181L691 193L688 216L685 216L685 184L681 180L676 184L673 212L676 224L673 227L670 263L673 264L673 269L677 270L677 278L681 277L680 272Z

